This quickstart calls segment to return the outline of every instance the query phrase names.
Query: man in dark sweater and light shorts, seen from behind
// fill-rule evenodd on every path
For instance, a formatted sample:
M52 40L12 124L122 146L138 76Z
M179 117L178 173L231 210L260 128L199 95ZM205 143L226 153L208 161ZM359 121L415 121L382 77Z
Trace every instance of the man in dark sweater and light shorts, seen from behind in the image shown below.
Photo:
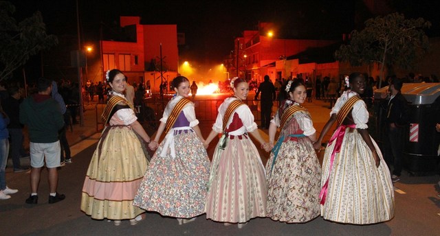
M49 203L65 199L64 194L56 192L58 170L60 167L61 147L58 130L63 128L64 119L58 102L51 97L52 81L39 78L38 94L34 94L20 105L20 121L28 126L30 139L30 189L31 194L26 203L36 204L41 169L46 163L50 187Z

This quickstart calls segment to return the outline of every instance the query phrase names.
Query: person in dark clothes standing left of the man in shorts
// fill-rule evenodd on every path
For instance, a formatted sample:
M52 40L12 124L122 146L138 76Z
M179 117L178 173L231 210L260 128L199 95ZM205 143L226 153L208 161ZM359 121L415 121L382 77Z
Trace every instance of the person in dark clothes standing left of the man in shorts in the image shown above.
M26 172L29 167L22 167L20 164L20 157L29 156L23 148L23 125L19 120L19 109L21 99L21 91L17 86L8 88L9 97L1 101L3 110L10 118L8 125L9 136L11 139L11 158L12 165L14 165L14 172Z

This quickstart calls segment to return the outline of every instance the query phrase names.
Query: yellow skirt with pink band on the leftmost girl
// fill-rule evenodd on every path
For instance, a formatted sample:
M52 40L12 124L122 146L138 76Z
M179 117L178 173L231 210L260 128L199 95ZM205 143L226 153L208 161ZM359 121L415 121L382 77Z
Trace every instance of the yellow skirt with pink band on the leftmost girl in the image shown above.
M87 169L81 211L97 220L133 219L144 212L133 206L133 198L148 161L133 130L126 126L107 129Z

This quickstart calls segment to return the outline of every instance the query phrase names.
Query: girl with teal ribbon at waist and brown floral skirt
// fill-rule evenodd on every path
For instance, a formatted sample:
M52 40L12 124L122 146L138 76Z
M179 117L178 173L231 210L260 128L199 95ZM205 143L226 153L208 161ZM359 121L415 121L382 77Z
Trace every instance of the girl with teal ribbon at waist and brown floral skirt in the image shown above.
M300 80L290 80L269 128L274 147L276 128L280 137L266 164L267 216L287 223L304 223L320 215L321 167L313 147L316 130L309 112L300 104L307 97Z

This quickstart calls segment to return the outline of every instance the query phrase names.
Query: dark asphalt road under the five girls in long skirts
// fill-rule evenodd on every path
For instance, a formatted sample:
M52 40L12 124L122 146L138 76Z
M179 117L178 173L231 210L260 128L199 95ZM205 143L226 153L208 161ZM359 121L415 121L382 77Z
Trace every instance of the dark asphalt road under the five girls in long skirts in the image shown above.
M328 118L328 104L316 101L305 106L314 117L316 130L320 130ZM204 137L210 132L211 125L212 121L201 122ZM114 226L113 222L106 220L91 220L80 211L80 193L98 138L99 134L95 134L72 146L73 163L59 171L58 192L66 194L62 202L47 204L45 170L40 183L39 204L36 205L25 204L30 193L29 173L7 172L8 185L19 192L9 200L0 200L0 235L440 235L439 176L408 176L406 172L395 183L395 217L380 224L338 224L322 217L305 224L284 224L269 218L257 218L239 229L235 225L223 226L206 220L205 215L200 215L195 222L179 226L174 218L161 217L153 212L147 213L146 220L136 226L129 222ZM217 140L208 148L210 156L215 143ZM261 151L261 157L265 163L268 155Z

